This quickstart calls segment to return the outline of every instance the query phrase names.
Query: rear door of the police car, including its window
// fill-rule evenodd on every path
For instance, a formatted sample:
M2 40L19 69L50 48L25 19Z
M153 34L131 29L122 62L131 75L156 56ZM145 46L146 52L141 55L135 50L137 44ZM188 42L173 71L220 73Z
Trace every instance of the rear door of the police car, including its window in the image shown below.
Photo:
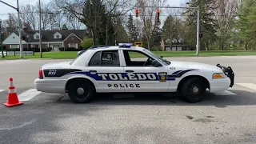
M100 50L86 66L86 75L94 78L99 93L124 92L119 53L120 50Z

